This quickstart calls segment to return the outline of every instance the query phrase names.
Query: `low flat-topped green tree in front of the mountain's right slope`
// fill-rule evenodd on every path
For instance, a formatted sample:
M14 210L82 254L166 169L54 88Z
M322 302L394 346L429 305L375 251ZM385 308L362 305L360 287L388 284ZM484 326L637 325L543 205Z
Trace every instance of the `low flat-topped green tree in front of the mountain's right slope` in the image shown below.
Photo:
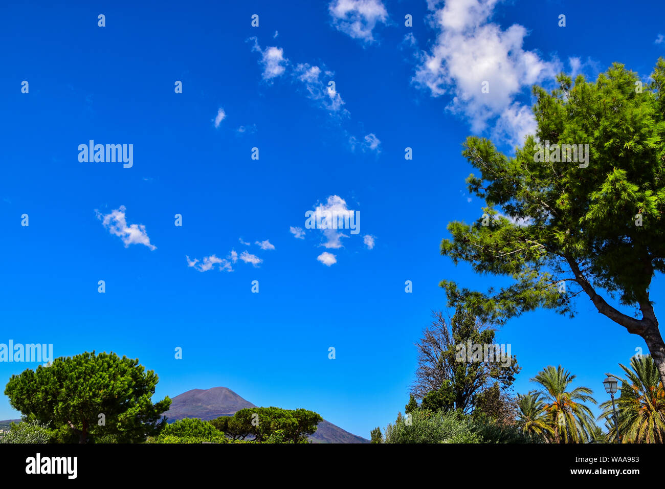
M220 416L210 423L234 440L249 436L258 442L266 442L271 434L281 430L283 442L303 443L317 430L321 421L321 415L303 408L260 407L244 408L233 416Z

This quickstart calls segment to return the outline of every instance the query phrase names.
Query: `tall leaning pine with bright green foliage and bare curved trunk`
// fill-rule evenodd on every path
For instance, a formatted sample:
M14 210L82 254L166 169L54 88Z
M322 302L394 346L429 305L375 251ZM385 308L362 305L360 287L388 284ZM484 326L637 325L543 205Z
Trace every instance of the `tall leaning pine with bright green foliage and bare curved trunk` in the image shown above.
M573 317L575 297L586 293L646 341L665 382L665 343L649 298L652 277L665 271L665 59L651 80L636 90L640 77L618 63L595 82L562 73L551 93L533 88L537 130L514 157L467 138L462 154L479 172L468 189L485 200L487 218L450 222L441 253L511 284L483 293L444 280L450 306L495 323L539 307ZM548 141L588 144L588 166L541 161L537 144ZM602 291L628 310L612 307Z

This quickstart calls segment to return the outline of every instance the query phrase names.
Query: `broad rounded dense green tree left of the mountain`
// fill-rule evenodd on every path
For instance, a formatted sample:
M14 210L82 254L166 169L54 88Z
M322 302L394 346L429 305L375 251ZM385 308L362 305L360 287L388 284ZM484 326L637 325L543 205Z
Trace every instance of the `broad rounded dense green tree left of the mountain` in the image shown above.
M28 420L49 423L52 438L61 442L85 443L107 434L118 442L137 442L166 423L160 417L171 400L152 403L157 383L154 371L146 372L138 359L93 351L12 375L5 395ZM106 416L104 426L99 414Z

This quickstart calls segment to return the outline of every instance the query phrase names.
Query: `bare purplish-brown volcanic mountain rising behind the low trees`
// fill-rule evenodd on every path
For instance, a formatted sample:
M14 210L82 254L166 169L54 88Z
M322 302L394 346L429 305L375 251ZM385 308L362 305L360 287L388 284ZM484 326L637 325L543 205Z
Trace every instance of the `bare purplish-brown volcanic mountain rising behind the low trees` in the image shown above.
M211 420L219 416L233 416L243 408L256 407L226 387L192 389L172 399L171 407L164 413L169 422L182 418ZM313 443L369 443L369 440L342 430L323 420L316 432L309 437Z

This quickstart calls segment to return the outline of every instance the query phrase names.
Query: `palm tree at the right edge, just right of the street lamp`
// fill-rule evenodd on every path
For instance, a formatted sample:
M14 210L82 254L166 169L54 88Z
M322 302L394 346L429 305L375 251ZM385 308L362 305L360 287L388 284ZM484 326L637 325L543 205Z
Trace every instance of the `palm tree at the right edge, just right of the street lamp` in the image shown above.
M622 443L665 442L665 389L658 367L651 355L632 357L632 371L619 364L628 379L621 379L621 395L616 400L618 408L618 432ZM616 376L614 376L616 377ZM600 418L610 421L612 401L600 405L604 408ZM616 430L610 430L610 441L616 438Z

